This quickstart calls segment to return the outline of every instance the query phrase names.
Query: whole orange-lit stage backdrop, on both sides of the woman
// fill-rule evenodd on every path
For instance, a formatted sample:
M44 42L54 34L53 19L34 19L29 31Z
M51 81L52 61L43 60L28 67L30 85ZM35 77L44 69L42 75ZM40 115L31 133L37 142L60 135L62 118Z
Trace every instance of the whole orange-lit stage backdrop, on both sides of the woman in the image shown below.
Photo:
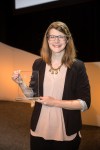
M11 79L13 71L20 69L28 76L34 60L39 57L0 43L0 100L15 101L19 97L21 91ZM100 126L100 62L85 62L85 65L91 85L92 103L88 111L82 112L82 120L83 124Z

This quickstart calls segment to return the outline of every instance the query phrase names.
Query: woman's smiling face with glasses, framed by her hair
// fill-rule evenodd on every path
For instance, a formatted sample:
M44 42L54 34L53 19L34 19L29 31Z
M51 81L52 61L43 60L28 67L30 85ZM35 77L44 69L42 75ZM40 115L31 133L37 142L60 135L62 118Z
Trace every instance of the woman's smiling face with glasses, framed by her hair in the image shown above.
M65 49L67 44L66 35L56 29L51 29L48 35L48 44L52 52L59 53Z

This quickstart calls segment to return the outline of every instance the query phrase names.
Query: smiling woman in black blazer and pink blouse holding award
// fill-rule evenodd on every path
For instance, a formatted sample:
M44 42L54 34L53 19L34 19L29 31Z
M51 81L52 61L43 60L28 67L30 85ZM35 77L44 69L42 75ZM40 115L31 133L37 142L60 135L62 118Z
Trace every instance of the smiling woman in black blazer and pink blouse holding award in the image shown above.
M85 65L76 59L72 35L63 22L47 28L41 58L35 60L33 71L39 72L39 94L31 118L30 147L37 150L78 150L81 142L81 111L90 107L90 84ZM27 97L34 93L32 76L29 88L15 71Z

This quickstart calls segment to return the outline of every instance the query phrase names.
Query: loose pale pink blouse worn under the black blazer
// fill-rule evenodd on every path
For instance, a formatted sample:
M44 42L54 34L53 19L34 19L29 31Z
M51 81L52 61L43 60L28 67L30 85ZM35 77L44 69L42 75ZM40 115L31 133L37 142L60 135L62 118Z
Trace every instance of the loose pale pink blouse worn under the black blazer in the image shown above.
M43 95L62 100L67 67L63 65L58 74L51 74L49 69L50 66L46 65ZM30 132L33 136L56 141L70 141L76 136L76 133L71 136L66 135L62 108L46 105L42 105L36 130Z

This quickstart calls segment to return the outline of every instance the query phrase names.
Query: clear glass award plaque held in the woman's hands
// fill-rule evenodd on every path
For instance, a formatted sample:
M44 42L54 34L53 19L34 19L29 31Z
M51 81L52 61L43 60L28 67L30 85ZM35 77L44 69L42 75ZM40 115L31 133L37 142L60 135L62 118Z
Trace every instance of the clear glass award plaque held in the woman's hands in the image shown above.
M21 71L20 75L24 81L24 83L29 87L31 85L33 90L32 97L26 97L24 92L22 92L21 88L18 86L18 94L16 100L35 100L39 97L39 72L38 71ZM31 82L30 82L31 81ZM31 88L27 89L27 93L29 93Z

